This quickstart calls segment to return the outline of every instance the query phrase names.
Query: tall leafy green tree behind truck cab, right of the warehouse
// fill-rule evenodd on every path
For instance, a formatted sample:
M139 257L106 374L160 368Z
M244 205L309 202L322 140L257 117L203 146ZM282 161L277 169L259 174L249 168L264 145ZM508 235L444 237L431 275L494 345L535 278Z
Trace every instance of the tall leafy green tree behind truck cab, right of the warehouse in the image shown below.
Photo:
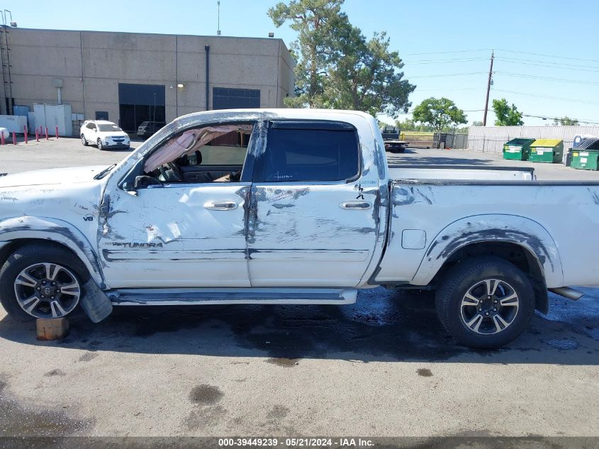
M291 21L298 39L291 50L298 55L296 107L357 109L395 118L407 111L415 86L403 79L403 62L389 50L386 33L367 40L341 12L344 0L291 0L269 9L279 27Z

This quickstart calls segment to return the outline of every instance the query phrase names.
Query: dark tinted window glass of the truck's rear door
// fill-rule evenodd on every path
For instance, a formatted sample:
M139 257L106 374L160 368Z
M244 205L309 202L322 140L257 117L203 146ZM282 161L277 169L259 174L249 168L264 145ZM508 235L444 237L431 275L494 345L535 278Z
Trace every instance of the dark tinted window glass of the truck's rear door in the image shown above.
M359 166L357 132L349 124L273 122L258 178L262 182L347 181L357 176Z

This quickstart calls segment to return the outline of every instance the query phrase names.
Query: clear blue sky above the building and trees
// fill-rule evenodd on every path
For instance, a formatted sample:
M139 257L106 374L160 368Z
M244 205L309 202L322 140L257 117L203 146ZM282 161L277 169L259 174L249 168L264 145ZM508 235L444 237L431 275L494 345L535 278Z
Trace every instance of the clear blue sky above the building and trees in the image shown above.
M275 3L221 0L223 35L266 37L274 31L289 45L293 31L275 28L267 16ZM217 29L216 0L19 0L4 7L21 28L196 35ZM482 120L495 49L491 99L505 97L530 115L599 123L599 1L346 0L345 11L366 35L388 33L405 62L405 78L417 85L413 106L428 96L447 96L467 111L469 123ZM494 119L490 112L488 123ZM550 122L525 117L527 125Z

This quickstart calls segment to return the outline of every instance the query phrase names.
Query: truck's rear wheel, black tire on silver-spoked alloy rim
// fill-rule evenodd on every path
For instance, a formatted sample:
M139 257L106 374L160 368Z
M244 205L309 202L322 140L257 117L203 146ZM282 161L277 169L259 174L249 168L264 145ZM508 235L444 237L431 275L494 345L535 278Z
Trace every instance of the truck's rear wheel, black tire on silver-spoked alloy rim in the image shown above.
M500 348L520 336L530 323L534 290L527 275L510 262L475 257L447 272L435 306L443 327L459 343L470 348Z

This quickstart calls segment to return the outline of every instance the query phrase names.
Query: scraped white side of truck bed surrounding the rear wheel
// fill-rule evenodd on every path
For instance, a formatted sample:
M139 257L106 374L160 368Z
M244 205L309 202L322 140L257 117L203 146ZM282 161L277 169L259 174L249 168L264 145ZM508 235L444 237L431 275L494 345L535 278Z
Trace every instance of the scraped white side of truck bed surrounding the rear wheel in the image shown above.
M444 171L428 171L434 170ZM599 282L598 182L398 179L390 189L391 222L377 282L425 285L454 251L475 240L529 250L547 287Z

